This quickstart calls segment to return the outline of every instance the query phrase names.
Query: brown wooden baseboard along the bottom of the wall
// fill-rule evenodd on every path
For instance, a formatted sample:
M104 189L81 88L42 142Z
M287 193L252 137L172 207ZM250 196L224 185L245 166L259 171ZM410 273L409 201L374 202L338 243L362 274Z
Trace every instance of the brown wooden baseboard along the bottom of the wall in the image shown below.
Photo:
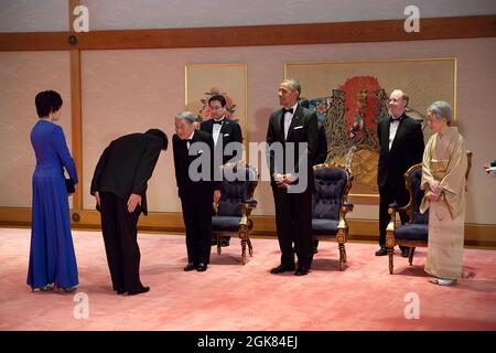
M97 211L71 211L75 229L99 229L100 215ZM274 216L254 216L254 235L276 237ZM375 220L349 220L349 240L378 242L379 229ZM31 226L31 208L0 207L0 226ZM140 231L184 233L181 213L150 213L141 216ZM465 245L476 247L496 247L496 224L465 224Z

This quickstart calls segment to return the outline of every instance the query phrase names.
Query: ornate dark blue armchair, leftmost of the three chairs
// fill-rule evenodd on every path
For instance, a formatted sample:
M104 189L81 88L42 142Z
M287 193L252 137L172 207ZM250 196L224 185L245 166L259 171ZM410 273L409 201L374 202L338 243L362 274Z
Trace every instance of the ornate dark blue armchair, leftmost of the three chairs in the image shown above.
M212 236L217 237L218 255L222 253L222 236L239 237L245 265L247 245L249 255L254 256L249 234L254 227L250 218L251 210L257 206L257 200L252 197L258 184L258 172L255 167L242 161L224 164L222 169L220 200L217 204L214 203Z

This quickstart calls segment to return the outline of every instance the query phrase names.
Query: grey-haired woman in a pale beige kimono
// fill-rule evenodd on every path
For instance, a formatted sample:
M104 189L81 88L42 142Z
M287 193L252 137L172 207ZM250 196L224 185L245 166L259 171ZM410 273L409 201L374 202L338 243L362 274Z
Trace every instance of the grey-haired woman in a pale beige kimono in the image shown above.
M467 157L463 137L451 127L451 107L434 101L428 125L434 135L423 153L420 212L429 210L429 246L425 271L440 286L456 285L462 277Z

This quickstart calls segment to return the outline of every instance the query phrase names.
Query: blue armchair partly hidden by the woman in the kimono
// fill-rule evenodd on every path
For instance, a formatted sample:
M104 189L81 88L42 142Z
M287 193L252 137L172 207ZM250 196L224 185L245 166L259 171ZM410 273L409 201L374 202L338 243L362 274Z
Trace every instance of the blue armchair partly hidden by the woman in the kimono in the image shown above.
M405 206L399 206L396 203L389 205L388 212L391 215L391 221L386 228L386 248L389 256L389 274L391 275L393 271L392 253L395 245L410 247L410 255L408 257L410 265L413 263L416 247L428 246L429 211L424 214L421 214L419 211L424 193L424 191L420 189L421 179L422 163L412 165L405 173L406 186L410 193L408 204ZM410 221L403 225L397 226L396 214L398 212L406 212Z

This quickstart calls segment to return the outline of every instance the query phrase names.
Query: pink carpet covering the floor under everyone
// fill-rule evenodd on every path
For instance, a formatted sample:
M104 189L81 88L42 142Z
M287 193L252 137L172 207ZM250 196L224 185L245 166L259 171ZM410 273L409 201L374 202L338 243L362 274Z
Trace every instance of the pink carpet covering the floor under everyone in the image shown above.
M423 271L424 248L411 267L396 255L391 276L375 244L348 243L339 271L336 244L321 243L310 275L295 277L269 274L279 263L276 239L252 239L245 266L233 239L206 272L184 272L183 236L140 234L141 280L151 291L126 297L111 291L101 234L73 235L88 318L75 318L74 293L30 291L30 229L0 228L0 330L496 330L494 250L465 249L464 278L440 287ZM418 295L419 319L406 318L407 295Z

